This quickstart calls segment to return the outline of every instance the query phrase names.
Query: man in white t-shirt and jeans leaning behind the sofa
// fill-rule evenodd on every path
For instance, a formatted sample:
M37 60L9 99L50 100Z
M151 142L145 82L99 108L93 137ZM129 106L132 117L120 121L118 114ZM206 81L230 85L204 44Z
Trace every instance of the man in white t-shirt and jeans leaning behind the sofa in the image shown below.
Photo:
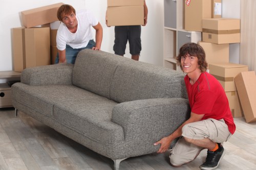
M59 7L57 17L61 23L56 36L56 64L74 64L78 52L85 48L100 50L103 29L90 11L80 10L76 13L71 5L65 4ZM96 30L96 42L93 40L91 26Z

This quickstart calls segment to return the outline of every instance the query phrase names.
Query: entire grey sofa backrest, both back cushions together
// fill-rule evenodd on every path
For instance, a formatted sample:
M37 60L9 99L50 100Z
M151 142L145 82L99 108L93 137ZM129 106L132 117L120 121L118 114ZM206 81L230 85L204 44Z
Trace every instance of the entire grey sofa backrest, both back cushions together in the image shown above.
M83 50L74 64L72 83L115 102L185 98L184 74L114 54Z

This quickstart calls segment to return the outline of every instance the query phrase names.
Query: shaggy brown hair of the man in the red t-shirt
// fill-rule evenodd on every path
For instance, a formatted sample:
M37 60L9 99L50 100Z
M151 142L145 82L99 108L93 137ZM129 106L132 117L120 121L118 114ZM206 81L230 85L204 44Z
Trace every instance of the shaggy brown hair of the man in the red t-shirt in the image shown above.
M205 60L205 52L201 45L196 44L194 42L189 42L180 47L179 55L176 57L177 65L181 66L181 57L185 55L195 56L198 58L198 65L201 72L207 70L208 64Z

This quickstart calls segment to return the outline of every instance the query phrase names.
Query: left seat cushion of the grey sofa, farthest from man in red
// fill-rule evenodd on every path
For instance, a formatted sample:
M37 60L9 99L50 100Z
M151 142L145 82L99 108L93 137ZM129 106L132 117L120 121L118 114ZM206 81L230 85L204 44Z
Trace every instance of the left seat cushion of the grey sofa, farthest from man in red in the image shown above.
M12 86L13 99L22 105L33 108L46 116L53 115L53 106L64 101L93 99L95 94L72 85L30 86L16 83Z

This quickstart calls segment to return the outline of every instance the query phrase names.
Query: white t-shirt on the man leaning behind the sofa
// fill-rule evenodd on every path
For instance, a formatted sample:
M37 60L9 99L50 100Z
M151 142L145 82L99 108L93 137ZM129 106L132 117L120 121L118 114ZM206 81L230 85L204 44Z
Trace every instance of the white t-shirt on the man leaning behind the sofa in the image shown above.
M65 23L61 22L56 36L58 50L65 50L66 44L72 48L86 47L93 39L91 26L99 23L96 17L88 10L80 10L76 12L76 19L78 22L76 33L71 33Z

